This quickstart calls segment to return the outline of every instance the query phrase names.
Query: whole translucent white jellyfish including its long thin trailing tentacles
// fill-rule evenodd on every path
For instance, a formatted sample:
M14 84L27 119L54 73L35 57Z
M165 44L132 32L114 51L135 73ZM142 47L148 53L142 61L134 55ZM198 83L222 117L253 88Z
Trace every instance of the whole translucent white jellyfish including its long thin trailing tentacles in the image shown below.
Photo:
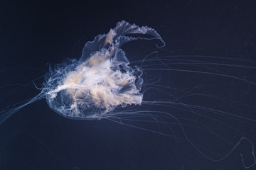
M131 41L144 42L148 40L158 41L156 50L149 52L142 60L130 62L126 52L122 49L123 45ZM249 151L247 151L246 157L250 157L252 161L246 162L245 153L241 152L242 164L246 169L254 166L256 164L255 149L253 142L248 137L240 137L224 155L217 158L210 157L188 137L186 126L200 126L202 130L216 135L214 128L208 128L200 121L192 118L180 119L178 115L174 115L174 111L190 114L188 116L196 115L209 118L228 128L231 128L230 125L225 125L218 118L211 117L210 114L248 121L249 124L255 124L255 120L250 116L235 115L229 111L211 107L216 101L222 101L232 106L231 108L234 104L233 101L225 100L219 96L198 92L198 89L207 91L210 83L206 86L203 83L193 85L193 82L184 82L191 85L183 89L170 86L170 80L173 79L170 77L170 72L224 77L228 80L240 81L248 86L255 86L255 81L226 74L226 70L217 69L220 66L242 69L255 69L255 67L247 64L250 62L247 60L232 60L230 64L214 62L215 60L230 60L225 57L210 57L212 61L209 61L208 58L206 60L206 56L193 55L188 56L188 58L182 55L173 55L170 58L170 55L159 55L158 50L164 46L164 40L153 28L139 27L126 21L118 22L117 26L110 29L107 34L97 35L94 40L87 42L82 49L82 56L79 60L66 59L65 62L50 67L42 86L36 86L41 92L28 101L23 101L21 106L2 109L0 111L0 125L24 106L46 98L48 106L65 118L78 120L107 119L169 137L175 137L175 135L162 132L161 128L145 128L140 125L132 125L130 122L155 123L158 127L164 125L167 129L171 125L175 125L179 128L183 140L186 140L203 157L213 162L222 161L230 156L241 142L247 142ZM238 64L241 62L245 64ZM176 68L175 65L178 64L182 64L183 69ZM152 72L159 72L159 77L151 77ZM200 79L195 81L200 81ZM155 96L159 96L159 98ZM193 100L196 101L198 96L201 97L201 101L197 102L205 103L205 99L208 99L209 103L206 103L208 106L193 103ZM193 98L192 101L191 98ZM188 124L188 121L193 123Z

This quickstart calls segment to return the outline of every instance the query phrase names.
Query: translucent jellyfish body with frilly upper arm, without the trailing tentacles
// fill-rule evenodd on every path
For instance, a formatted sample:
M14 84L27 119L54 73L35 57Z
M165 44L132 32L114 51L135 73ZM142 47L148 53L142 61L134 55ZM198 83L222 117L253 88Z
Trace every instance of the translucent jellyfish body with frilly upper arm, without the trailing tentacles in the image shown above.
M127 34L148 34L153 38ZM139 39L159 39L164 44L156 30L121 21L107 35L97 35L87 42L80 60L57 65L43 88L50 108L68 118L92 119L107 117L117 106L141 105L142 70L130 67L120 48Z

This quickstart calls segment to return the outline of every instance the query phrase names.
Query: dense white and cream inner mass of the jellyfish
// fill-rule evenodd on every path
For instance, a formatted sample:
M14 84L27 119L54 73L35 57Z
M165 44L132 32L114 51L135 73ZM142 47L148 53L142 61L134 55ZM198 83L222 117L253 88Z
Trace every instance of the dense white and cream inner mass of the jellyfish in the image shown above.
M48 95L50 98L55 98L58 92L65 90L67 96L74 100L73 109L77 109L81 102L90 106L90 103L85 102L89 98L97 108L106 108L107 111L112 110L113 106L141 104L142 94L134 84L136 77L129 72L113 71L110 69L113 67L112 62L105 60L92 67L85 65L69 72L63 84L49 91ZM127 90L120 93L124 86L127 86Z

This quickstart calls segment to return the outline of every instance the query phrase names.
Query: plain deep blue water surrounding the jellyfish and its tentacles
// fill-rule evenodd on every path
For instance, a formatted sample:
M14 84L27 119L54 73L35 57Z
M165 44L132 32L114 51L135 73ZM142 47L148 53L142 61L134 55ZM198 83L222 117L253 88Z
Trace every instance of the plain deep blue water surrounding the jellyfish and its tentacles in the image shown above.
M66 57L79 58L85 42L93 40L95 35L107 33L121 20L156 29L166 42L165 55L211 55L255 61L255 7L255 1L1 1L0 108L36 96L39 91L31 80L41 83L41 77L48 71L47 63L54 65ZM132 43L130 47L126 46L127 54L131 55L129 60L142 60L146 53L139 58L133 55L150 49L143 44L139 44L141 49L135 46ZM138 51L132 51L133 48ZM215 62L256 65L254 62L229 60ZM182 65L175 68L183 69ZM215 69L256 82L255 69L233 68L227 71L221 65ZM159 74L162 72L152 73L148 81L154 81ZM189 79L191 75L180 72L169 72L168 76L171 81L161 85L178 90L209 85L213 81L213 86L196 92L214 94L242 104L232 103L233 106L225 108L227 104L204 101L198 96L188 98L188 101L252 119L233 119L232 115L213 113L208 119L195 118L193 113L191 117L189 113L161 108L184 120L188 137L204 153L213 159L223 157L240 137L248 137L256 143L256 108L251 107L256 102L255 85L199 74L193 74L193 79ZM224 85L229 83L232 86ZM170 93L182 96L175 91ZM158 94L145 94L145 97L147 100L161 98ZM209 132L204 134L199 124L193 124L192 120L209 125L208 130L220 136ZM155 125L132 125L157 130ZM174 137L109 120L69 120L51 111L42 100L26 106L0 125L0 169L244 169L240 153L247 156L245 164L253 162L251 145L245 141L230 157L212 162L184 140L178 126L169 125L159 132ZM255 169L255 166L250 169Z

